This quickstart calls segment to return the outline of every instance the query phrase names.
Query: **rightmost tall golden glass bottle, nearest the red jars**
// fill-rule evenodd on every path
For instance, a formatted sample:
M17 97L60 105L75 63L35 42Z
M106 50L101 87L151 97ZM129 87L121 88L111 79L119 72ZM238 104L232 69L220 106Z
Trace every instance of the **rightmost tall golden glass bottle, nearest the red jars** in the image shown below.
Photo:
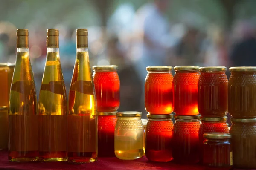
M97 160L97 106L90 70L87 29L76 30L76 61L69 93L67 128L68 161Z

